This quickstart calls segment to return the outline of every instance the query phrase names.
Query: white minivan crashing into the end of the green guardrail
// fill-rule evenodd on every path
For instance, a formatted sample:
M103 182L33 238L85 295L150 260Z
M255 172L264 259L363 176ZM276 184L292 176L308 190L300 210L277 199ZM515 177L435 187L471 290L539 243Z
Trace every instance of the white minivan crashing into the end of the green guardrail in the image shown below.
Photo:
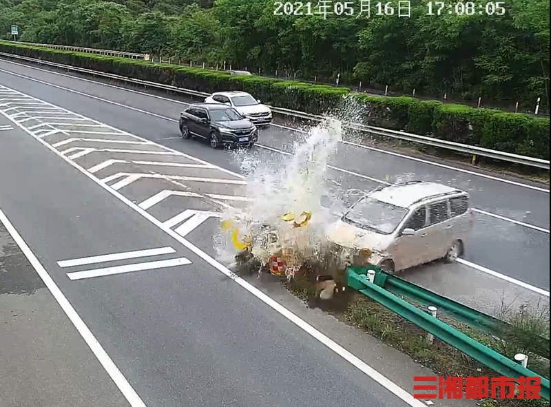
M377 189L357 201L327 238L350 256L368 249L368 262L394 272L463 254L474 226L469 195L435 182Z

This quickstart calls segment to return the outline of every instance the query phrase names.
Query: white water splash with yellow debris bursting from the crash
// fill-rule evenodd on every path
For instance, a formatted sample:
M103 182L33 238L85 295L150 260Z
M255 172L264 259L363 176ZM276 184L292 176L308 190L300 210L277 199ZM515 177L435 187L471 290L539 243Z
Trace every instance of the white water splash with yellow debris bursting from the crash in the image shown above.
M258 155L237 153L247 179L249 202L245 208L224 213L223 218L231 223L225 222L215 237L220 260L234 258L247 244L247 237L253 247L251 255L262 264L285 250L293 253L296 262L320 255L326 244L325 229L335 218L331 209L322 206L322 200L329 196L335 205L340 202L331 199L331 188L339 186L328 186L327 179L329 158L340 141L341 122L329 118L313 127L305 140L295 143L293 153L282 161L267 163ZM284 220L285 213L291 213L294 221ZM297 227L297 222L308 216L307 225Z

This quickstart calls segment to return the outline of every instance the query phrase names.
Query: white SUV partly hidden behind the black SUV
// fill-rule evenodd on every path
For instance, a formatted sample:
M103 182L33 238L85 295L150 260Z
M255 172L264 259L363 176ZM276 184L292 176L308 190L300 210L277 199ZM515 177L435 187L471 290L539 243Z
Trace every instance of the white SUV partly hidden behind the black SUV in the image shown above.
M271 109L247 92L216 92L206 98L205 103L225 103L257 126L269 125L273 118Z

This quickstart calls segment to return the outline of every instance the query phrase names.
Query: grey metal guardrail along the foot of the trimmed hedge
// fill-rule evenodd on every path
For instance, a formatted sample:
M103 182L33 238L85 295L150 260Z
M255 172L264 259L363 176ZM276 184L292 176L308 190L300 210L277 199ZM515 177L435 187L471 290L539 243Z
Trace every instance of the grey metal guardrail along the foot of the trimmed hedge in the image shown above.
M4 41L7 42L7 41ZM183 94L190 94L192 96L202 96L207 97L210 96L209 93L206 92L198 92L196 90L189 90L182 87L176 87L171 85L163 85L162 83L154 83L150 81L142 81L141 79L133 79L129 78L127 76L121 76L121 75L115 75L115 74L107 74L105 72L98 72L94 70L87 70L80 67L74 67L70 65L63 65L61 63L54 63L50 61L43 61L41 59L34 59L29 58L27 56L20 56L17 54L8 54L6 52L0 52L0 55L8 56L10 58L17 58L17 59L23 59L25 61L31 61L34 63L41 63L43 65L50 65L54 67L61 67L65 70L73 70L75 72L83 72L87 74L92 74L96 76L104 76L106 78L110 79L116 79L118 81L124 81L127 83L137 83L139 85L149 86L149 87L155 87L157 89L163 89L163 90L169 90L170 92L178 92ZM324 116L319 116L315 114L309 114L306 112L299 112L296 110L291 109L285 109L283 107L275 107L270 106L270 108L273 110L273 112L282 114L285 116L292 116L296 118L302 118L309 121L323 121ZM399 140L407 140L413 143L419 143L424 145L432 145L433 147L439 147L443 149L450 149L455 152L462 152L466 154L472 154L473 156L484 156L488 158L494 158L496 160L502 160L507 161L508 163L517 163L521 165L527 165L529 167L538 167L542 169L550 169L550 162L549 160L542 160L540 158L533 158L528 156L519 156L517 154L507 153L507 152L499 152L497 150L492 149L486 149L483 147L476 147L473 145L466 145L461 143L454 143L452 141L446 141L446 140L439 140L438 138L432 138L432 137L426 137L426 136L419 136L418 134L410 134L406 132L397 132L395 130L390 129L382 129L381 127L374 127L374 126L368 126L368 125L361 125L358 123L351 123L351 122L344 122L344 127L349 127L351 129L357 129L361 132L366 132L369 134L377 134L378 136L384 136L389 138L397 138Z

